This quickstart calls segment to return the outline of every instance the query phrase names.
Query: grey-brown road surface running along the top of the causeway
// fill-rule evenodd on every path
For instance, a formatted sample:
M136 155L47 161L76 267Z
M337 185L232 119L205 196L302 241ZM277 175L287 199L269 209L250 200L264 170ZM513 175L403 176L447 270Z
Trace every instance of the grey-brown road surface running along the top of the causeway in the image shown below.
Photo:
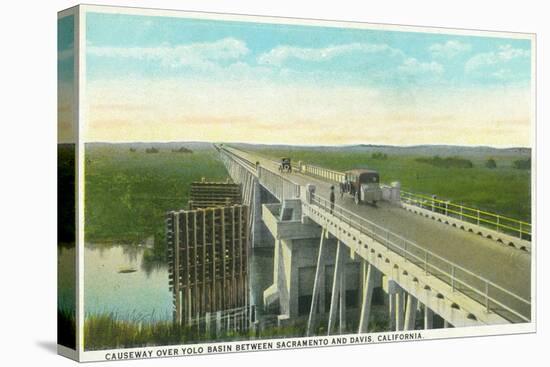
M250 162L260 162L261 166L278 172L278 163L266 157L225 148ZM330 186L335 185L301 173L293 172L283 175L301 186L308 183L314 184L316 194L326 199L329 197ZM381 179L383 180L383 177ZM344 195L343 198L340 198L337 185L335 185L335 190L337 205L389 229L520 297L531 299L531 255L529 253L408 212L387 202L380 202L377 207L366 204L356 205L351 196ZM481 285L478 288L482 289ZM516 302L509 296L501 297L497 294L493 294L493 296L530 318L527 305L519 301Z

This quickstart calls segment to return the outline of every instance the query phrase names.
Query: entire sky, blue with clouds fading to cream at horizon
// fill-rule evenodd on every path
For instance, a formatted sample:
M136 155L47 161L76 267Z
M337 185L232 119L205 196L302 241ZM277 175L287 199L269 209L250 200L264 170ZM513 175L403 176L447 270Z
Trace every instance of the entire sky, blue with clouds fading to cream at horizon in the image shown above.
M111 122L119 121L125 129L132 129L131 119L136 117L125 110L145 108L170 109L172 113L166 118L172 125L187 121L190 126L200 126L202 119L212 131L231 122L244 124L244 120L264 124L266 128L283 128L294 123L304 129L308 123L319 121L328 126L339 118L361 129L376 120L392 125L393 131L398 130L399 124L405 124L402 130L407 131L414 123L428 121L433 127L434 121L444 126L467 119L465 123L472 124L475 120L487 124L489 132L492 126L500 127L495 131L510 134L510 139L516 134L516 124L523 131L523 141L517 141L517 145L529 145L526 141L529 133L525 130L530 119L530 40L101 13L86 14L86 27L87 78L92 89L91 103L98 107L89 130L93 138L108 138L106 130L96 133L93 121L100 130L112 126L105 123L109 108L111 117L116 117ZM107 88L109 103L103 93ZM155 88L158 99L151 92ZM172 101L170 96L163 96L161 88L172 90ZM242 90L245 88L258 90L247 94ZM289 88L294 89L289 92ZM338 88L342 90L335 94ZM189 100L190 89L212 96L215 98L212 103L225 107L212 111L207 103L195 103L188 104L185 111L183 107L178 110L174 99L179 96ZM241 100L249 103L236 103L228 96L229 92L242 93ZM297 95L303 99L301 104L288 105L287 109L294 113L280 111L285 108L280 105L281 93L285 92L289 98ZM475 99L469 100L466 93ZM94 96L98 97L95 101ZM484 96L487 103L478 105L479 98ZM269 106L270 98L279 102L277 111ZM308 114L316 105L326 105L328 101L345 106L346 110L338 112L338 108L331 107L326 113ZM497 111L499 101L517 101L519 106L514 111L508 111L507 107L503 114ZM362 106L365 103L371 106L367 110ZM433 103L437 103L437 108L432 111L429 107ZM258 104L269 113L256 110ZM484 110L487 108L492 110ZM464 110L465 115L459 116ZM499 119L513 121L498 126ZM212 121L220 122L216 125ZM152 123L157 124L156 128L168 128L160 122L149 122ZM150 137L147 134L153 127L147 124L142 121L139 127L134 126L137 128L134 132L144 134L138 140L219 140L220 137L219 134ZM388 144L407 142L404 137L378 141L385 135L365 135L359 139ZM281 140L277 136L271 140L264 138L254 134L231 137L264 142ZM429 142L430 138L433 143L453 143L452 135L442 139L411 136L410 143ZM349 139L345 136L338 139L318 136L318 139L324 140L319 143L359 142L354 140L357 135L350 135ZM489 139L487 145L516 145L510 139ZM471 137L455 140L456 144L478 143Z

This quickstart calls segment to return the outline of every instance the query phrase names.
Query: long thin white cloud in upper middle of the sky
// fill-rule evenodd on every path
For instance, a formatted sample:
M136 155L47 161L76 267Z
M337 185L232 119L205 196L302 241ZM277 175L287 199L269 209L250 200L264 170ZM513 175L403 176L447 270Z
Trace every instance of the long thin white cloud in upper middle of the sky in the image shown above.
M302 61L323 62L335 57L351 53L381 53L386 52L390 55L400 55L401 51L391 48L385 44L370 43L348 43L342 45L333 45L324 48L307 48L294 46L277 46L258 57L258 63L280 66L289 59L298 59Z

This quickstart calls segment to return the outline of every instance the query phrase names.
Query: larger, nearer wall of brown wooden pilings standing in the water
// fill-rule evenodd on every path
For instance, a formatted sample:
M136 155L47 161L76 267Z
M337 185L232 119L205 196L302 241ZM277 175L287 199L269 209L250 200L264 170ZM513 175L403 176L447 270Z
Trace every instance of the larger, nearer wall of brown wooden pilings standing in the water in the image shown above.
M169 284L175 322L200 325L205 317L209 323L212 313L246 310L247 222L248 207L240 204L167 213Z

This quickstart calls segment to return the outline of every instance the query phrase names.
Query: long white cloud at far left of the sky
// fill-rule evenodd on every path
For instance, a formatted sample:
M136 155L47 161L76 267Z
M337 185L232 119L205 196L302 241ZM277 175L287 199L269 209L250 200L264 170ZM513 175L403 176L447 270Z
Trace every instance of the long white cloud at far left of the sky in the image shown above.
M192 43L188 45L162 45L158 47L109 47L89 45L87 52L98 57L131 58L159 61L164 66L193 66L208 68L215 61L237 60L245 56L249 49L235 38L224 38L214 42Z

